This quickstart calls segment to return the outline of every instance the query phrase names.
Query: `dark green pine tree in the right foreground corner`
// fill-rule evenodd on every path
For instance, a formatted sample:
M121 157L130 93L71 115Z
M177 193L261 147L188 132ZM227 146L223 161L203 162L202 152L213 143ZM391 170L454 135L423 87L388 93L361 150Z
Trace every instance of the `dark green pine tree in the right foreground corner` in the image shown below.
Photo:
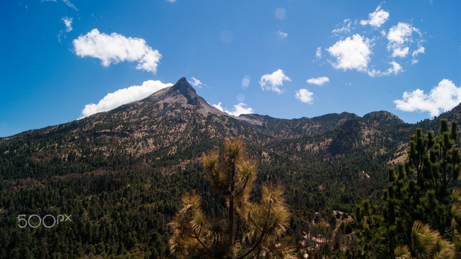
M359 254L372 258L455 256L447 252L453 246L443 250L441 244L448 239L455 244L459 241L455 218L458 211L461 215L461 206L454 199L461 169L461 153L455 147L457 130L455 121L449 130L448 121L442 119L437 136L431 131L423 135L420 128L410 136L408 161L399 163L397 174L389 168L390 185L383 192L382 214L367 200L356 207L353 218L361 244ZM434 238L424 239L430 236ZM438 250L426 249L423 244ZM426 250L431 253L421 252Z

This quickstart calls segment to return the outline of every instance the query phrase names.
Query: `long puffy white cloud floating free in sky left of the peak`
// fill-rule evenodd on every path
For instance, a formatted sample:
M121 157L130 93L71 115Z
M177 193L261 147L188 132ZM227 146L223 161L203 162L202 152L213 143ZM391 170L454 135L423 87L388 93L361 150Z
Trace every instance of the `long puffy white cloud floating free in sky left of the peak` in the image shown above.
M106 67L125 60L136 61L139 62L136 69L155 74L162 57L159 51L149 47L144 39L126 38L117 33L107 35L100 33L98 29L80 35L73 44L78 56L98 58L101 65Z

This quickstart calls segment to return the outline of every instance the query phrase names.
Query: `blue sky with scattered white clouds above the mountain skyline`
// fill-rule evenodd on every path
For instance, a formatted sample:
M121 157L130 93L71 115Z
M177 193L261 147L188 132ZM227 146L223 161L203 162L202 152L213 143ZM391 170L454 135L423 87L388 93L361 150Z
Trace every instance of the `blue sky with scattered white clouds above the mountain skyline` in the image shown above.
M186 77L222 110L276 118L461 101L461 3L82 1L0 4L0 137L141 99Z

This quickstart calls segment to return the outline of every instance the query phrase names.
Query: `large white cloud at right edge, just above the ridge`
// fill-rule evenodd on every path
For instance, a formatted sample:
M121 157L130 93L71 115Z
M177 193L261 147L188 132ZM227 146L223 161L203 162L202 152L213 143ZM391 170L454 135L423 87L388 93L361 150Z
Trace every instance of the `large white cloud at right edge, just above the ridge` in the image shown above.
M431 89L429 94L416 89L413 92L405 91L402 100L395 100L396 109L405 112L429 112L431 117L448 111L461 102L461 87L443 79L438 86Z

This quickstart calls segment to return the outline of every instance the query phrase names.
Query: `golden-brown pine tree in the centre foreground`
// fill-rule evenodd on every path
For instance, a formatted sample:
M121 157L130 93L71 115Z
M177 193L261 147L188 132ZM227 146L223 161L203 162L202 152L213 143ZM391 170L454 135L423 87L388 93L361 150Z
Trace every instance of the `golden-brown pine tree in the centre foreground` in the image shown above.
M289 225L283 188L263 184L260 201L250 200L257 163L248 156L242 139L226 138L224 159L213 150L203 153L202 162L213 188L227 201L228 218L205 215L195 191L183 194L183 204L169 223L171 253L184 259L258 258L263 252L289 258L292 247L288 243L275 245Z

